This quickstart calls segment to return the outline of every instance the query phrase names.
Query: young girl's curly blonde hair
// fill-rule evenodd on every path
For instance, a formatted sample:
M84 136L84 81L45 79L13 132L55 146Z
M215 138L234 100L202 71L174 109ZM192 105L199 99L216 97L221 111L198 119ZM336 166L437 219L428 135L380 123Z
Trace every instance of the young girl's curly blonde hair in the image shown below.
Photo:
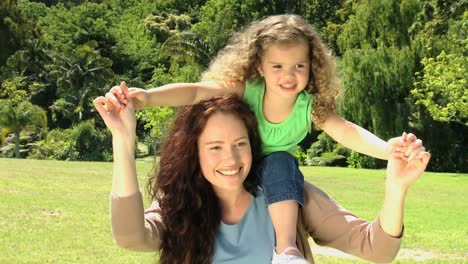
M314 96L312 120L320 124L336 108L340 91L336 62L312 25L298 15L275 15L254 21L228 44L203 73L203 80L247 81L260 78L257 70L265 50L272 44L304 41L309 45L310 75L305 90Z

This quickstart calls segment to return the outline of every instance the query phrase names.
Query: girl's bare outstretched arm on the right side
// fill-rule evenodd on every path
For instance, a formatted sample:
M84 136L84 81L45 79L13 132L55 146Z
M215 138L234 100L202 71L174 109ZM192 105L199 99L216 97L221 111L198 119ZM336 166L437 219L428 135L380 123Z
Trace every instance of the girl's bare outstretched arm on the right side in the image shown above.
M395 144L400 142L400 138L393 138L385 142L366 129L338 116L336 113L330 114L318 126L341 145L383 160L389 159L390 152ZM410 134L409 137L412 140L414 135Z

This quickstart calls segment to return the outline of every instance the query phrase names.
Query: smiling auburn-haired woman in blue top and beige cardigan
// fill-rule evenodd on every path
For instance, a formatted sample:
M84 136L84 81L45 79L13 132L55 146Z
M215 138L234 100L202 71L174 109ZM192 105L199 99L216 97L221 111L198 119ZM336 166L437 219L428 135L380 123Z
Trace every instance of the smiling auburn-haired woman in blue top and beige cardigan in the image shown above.
M105 97L94 104L113 135L111 222L120 246L160 251L161 263L271 263L274 231L258 190L260 141L248 106L225 95L178 112L161 149L159 172L150 180L151 198L158 202L144 212L135 170L133 107L121 109ZM305 183L300 217L305 231L318 244L391 261L401 242L406 190L430 158L420 141L414 136L410 141L396 148L389 161L377 220L359 219ZM415 158L400 158L402 151Z

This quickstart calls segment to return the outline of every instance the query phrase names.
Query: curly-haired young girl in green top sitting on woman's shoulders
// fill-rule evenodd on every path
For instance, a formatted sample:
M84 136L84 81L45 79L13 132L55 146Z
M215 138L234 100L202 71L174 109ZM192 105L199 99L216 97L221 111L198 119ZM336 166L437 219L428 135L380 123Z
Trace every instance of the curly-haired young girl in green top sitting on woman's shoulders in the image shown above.
M393 144L335 113L335 60L300 16L253 22L231 38L202 79L149 90L122 82L106 97L121 108L131 100L136 109L194 104L227 93L243 98L257 117L265 156L262 185L276 235L272 263L308 263L295 244L304 176L297 161L280 152L294 153L312 123L340 144L376 158L387 159Z

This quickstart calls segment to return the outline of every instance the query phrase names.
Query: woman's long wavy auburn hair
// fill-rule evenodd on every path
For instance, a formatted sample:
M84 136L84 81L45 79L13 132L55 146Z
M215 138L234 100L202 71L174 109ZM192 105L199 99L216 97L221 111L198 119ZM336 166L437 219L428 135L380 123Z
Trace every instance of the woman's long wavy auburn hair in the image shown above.
M252 167L244 187L256 195L260 184L256 166L261 159L261 145L257 121L249 107L235 95L182 107L159 151L159 168L155 166L156 172L147 186L151 200L159 202L165 227L160 263L212 262L221 210L211 184L200 169L198 139L208 119L220 112L236 116L247 128Z

